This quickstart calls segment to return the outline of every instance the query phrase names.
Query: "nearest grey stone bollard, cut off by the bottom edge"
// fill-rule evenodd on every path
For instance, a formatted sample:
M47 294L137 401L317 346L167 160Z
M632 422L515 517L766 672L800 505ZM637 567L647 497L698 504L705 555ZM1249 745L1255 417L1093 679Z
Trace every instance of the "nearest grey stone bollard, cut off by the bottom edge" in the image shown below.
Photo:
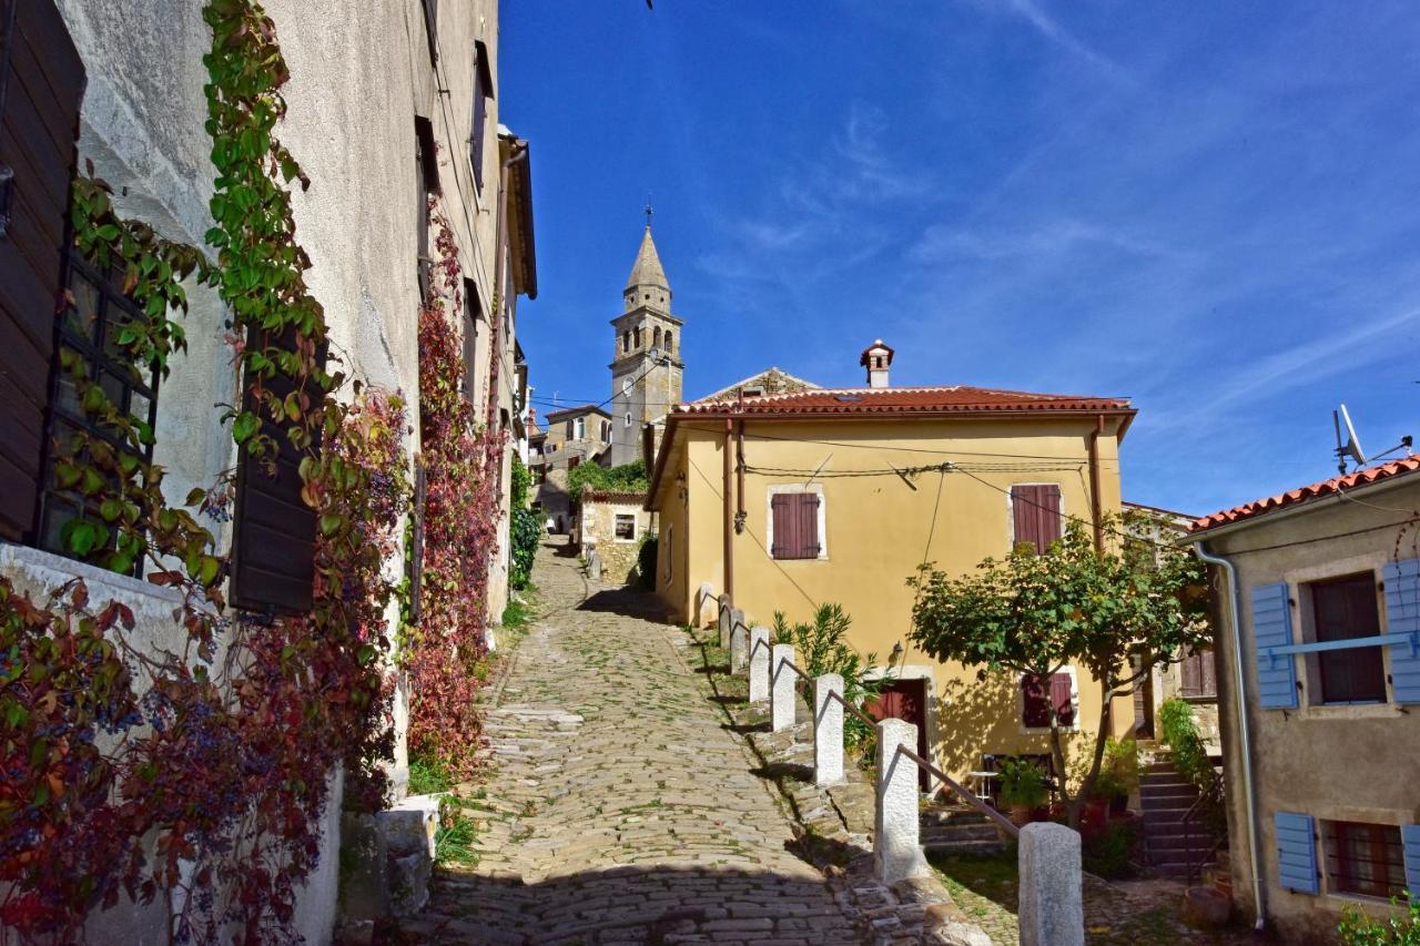
M1021 946L1083 946L1079 834L1037 821L1021 828Z

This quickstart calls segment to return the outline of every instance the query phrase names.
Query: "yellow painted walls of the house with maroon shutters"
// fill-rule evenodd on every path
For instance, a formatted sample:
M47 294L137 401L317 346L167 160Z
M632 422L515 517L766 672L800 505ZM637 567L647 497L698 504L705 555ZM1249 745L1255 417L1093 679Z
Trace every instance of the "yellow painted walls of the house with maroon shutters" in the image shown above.
M1045 412L1041 412L1045 413ZM1100 507L1118 513L1119 433L1126 419L1106 418L1098 437ZM934 562L966 574L985 557L1012 547L1010 490L1055 483L1062 514L1089 521L1089 440L1093 416L1015 415L977 418L746 418L744 531L733 535L734 604L751 625L770 625L775 611L807 621L818 604L836 602L852 615L851 643L886 663L903 648L903 678L929 680L930 746L949 773L980 767L983 753L1048 751L1048 736L1021 724L1017 680L977 680L976 668L939 663L912 645L913 591L907 578ZM676 418L652 507L660 514L657 589L677 621L694 619L700 582L719 594L724 574L726 420ZM731 457L736 445L730 442ZM953 463L949 472L893 470ZM736 476L731 507L738 509ZM814 560L770 554L771 496L812 490L821 496L822 551ZM1075 675L1079 736L1092 739L1100 687ZM1133 705L1116 699L1113 734L1133 724Z

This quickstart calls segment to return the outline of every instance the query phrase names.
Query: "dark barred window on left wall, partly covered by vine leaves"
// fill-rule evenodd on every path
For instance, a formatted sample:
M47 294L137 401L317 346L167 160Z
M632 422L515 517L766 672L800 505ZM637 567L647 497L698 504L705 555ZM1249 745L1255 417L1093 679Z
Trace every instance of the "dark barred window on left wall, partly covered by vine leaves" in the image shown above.
M118 337L124 327L142 318L138 307L124 295L124 273L111 268L99 273L78 253L70 253L68 290L72 295L60 321L58 349L54 358L54 402L50 405L48 437L68 445L77 433L111 445L119 453L151 460L153 447L142 453L114 435L106 426L94 423L80 406L78 389L68 372L60 366L61 352L78 355L85 374L98 381L104 393L121 411L149 428L158 423L158 375L152 366L133 365ZM54 482L54 457L45 464L44 493L40 499L38 545L53 553L68 554L62 530L70 520L84 514L101 520L98 506L82 494L61 490ZM112 547L112 543L111 543ZM139 562L133 562L135 568Z

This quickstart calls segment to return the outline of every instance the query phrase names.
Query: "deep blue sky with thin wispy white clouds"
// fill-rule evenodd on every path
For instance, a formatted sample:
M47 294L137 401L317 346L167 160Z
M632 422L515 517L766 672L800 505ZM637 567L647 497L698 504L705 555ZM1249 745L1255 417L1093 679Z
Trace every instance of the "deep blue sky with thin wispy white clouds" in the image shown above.
M649 193L687 396L882 337L895 385L1133 398L1126 499L1325 479L1338 401L1420 435L1417 48L1410 3L506 3L537 396L609 396Z

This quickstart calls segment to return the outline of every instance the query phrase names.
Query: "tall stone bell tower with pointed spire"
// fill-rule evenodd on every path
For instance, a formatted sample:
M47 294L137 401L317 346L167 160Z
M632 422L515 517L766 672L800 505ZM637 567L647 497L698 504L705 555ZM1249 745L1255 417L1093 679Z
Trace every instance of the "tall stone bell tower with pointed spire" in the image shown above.
M622 291L625 311L612 320L612 464L642 456L642 428L662 420L679 403L684 362L680 328L670 314L670 283L650 237L650 207L636 263ZM655 436L660 447L660 430Z

